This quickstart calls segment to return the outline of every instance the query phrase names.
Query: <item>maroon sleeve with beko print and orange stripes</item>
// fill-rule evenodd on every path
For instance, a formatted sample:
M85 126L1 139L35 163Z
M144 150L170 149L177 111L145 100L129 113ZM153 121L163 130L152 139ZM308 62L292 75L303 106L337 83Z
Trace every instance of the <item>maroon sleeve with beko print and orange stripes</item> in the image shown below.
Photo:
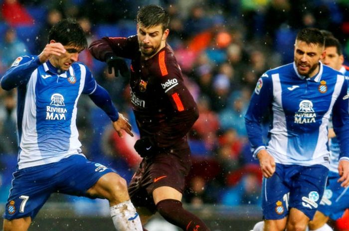
M162 52L159 54L159 84L171 102L172 111L166 126L156 133L155 140L159 147L166 148L174 145L189 132L199 114L192 95L184 85L177 63L175 60L166 62L165 51Z

